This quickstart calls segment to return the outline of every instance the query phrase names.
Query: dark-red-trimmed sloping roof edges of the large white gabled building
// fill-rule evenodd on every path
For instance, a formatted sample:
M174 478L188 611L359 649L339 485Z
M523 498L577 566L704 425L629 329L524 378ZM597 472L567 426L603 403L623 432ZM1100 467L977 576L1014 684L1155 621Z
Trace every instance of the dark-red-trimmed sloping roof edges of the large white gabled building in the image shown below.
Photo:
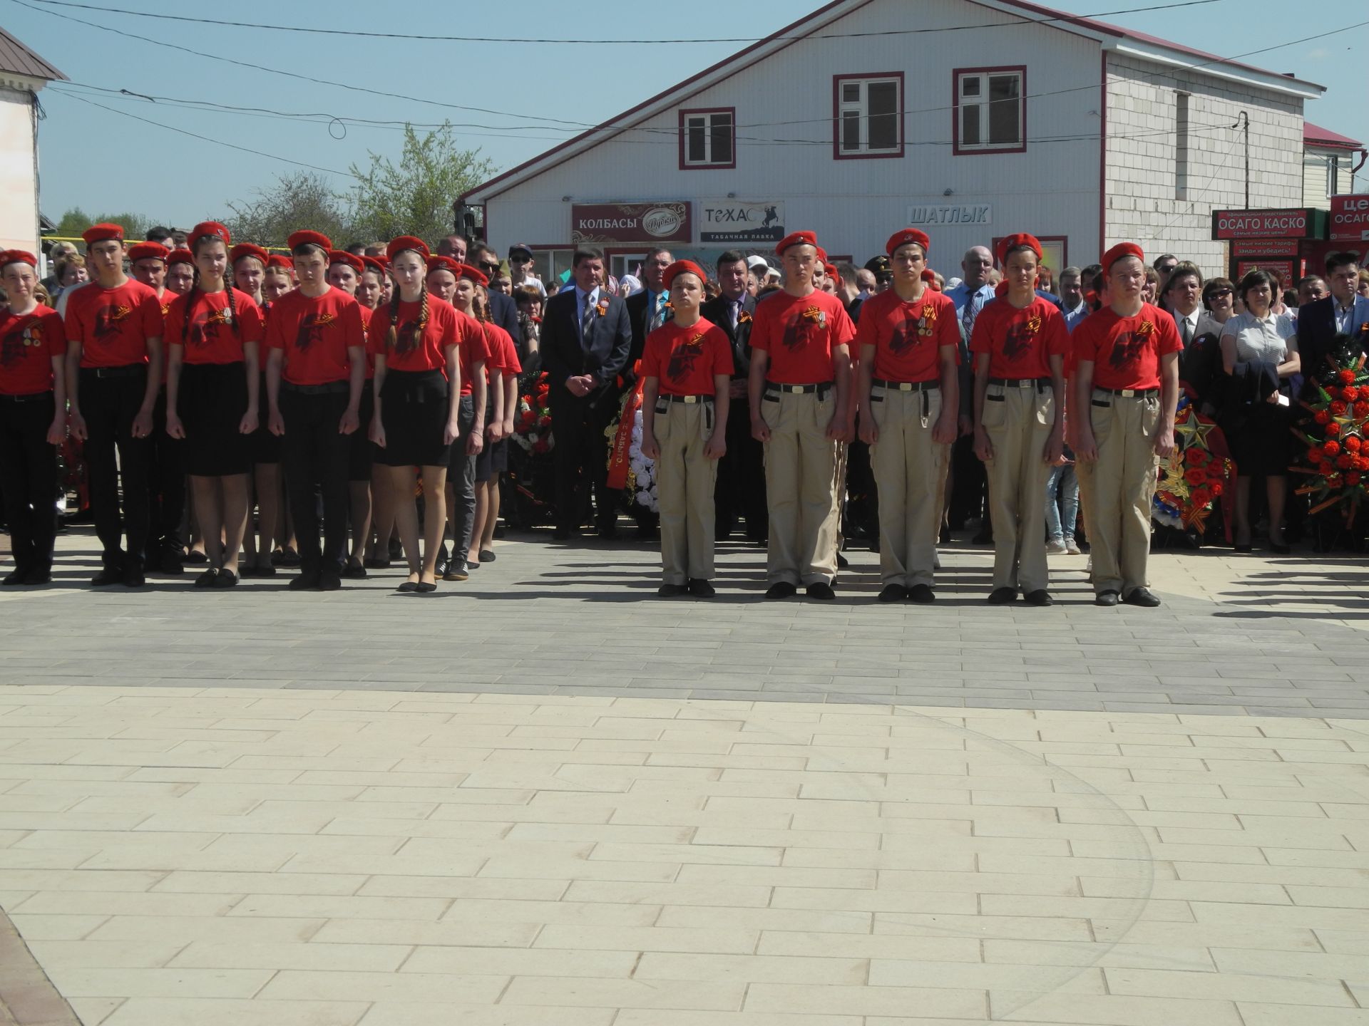
M622 131L632 129L649 118L671 109L683 100L687 100L690 96L701 93L702 90L717 85L741 71L745 71L753 64L760 63L765 57L769 57L794 42L821 31L836 19L854 12L869 3L875 3L875 0L831 0L831 3L827 3L816 11L804 15L798 21L786 25L783 29L771 33L765 38L743 47L730 57L724 57L716 64L704 68L698 74L690 75L683 82L678 82L669 89L643 100L635 107L630 107L616 118L611 118L609 120L597 124L593 129L587 129L564 142L559 142L531 160L524 160L522 164L486 179L474 189L465 190L457 197L453 207L460 207L471 201L486 202L522 182L535 178L545 171L550 171L553 167L578 156L579 153L583 153L591 146L605 142ZM1024 23L1045 21L1047 27L1095 38L1105 51L1112 49L1116 52L1131 53L1151 62L1169 64L1175 70L1190 68L1210 77L1235 79L1302 98L1317 98L1327 92L1325 86L1320 86L1316 82L1306 82L1291 75L1266 71L1251 64L1240 64L1213 53L1205 53L1202 51L1190 49L1188 47L1183 47L1177 42L1161 40L1155 36L1147 36L1146 33L1132 31L1131 29L1123 29L1092 18L1082 18L1064 11L1042 7L1040 4L1031 3L1029 0L967 0L967 3L1016 15L1023 18ZM1194 60L1195 57L1198 57L1198 60Z

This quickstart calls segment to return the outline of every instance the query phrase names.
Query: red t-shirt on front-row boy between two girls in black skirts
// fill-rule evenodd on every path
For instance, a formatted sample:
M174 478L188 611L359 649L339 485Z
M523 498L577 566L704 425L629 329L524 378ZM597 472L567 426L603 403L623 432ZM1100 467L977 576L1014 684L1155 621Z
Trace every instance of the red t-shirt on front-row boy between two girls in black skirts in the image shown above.
M341 289L309 297L298 289L271 304L266 343L285 352L282 379L329 384L350 378L348 349L364 347L361 304Z

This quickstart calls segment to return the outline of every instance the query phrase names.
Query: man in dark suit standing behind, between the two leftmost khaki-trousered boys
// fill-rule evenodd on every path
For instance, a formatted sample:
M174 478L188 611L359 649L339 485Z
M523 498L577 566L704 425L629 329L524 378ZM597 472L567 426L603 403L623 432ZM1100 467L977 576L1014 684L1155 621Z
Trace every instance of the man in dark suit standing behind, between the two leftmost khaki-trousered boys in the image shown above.
M746 536L765 544L769 513L765 508L765 447L752 438L746 378L752 372L752 316L756 300L746 291L746 257L728 250L717 259L721 294L700 312L717 324L732 346L731 405L727 412L727 453L717 464L713 488L716 536L727 538L737 518L746 518Z

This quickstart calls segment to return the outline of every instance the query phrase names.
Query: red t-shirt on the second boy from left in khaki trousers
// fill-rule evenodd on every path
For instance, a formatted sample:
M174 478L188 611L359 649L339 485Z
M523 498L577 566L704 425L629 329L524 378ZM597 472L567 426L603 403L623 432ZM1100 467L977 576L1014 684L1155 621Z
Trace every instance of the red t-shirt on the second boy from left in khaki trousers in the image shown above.
M832 380L832 352L853 338L856 326L831 293L772 293L756 304L752 349L769 353L765 376L778 384Z

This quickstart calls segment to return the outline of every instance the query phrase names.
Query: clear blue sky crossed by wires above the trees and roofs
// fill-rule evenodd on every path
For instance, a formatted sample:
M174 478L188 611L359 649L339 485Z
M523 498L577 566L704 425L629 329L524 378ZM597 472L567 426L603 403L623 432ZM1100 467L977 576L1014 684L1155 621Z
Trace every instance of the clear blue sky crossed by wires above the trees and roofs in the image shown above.
M817 0L810 1L817 5ZM810 10L809 3L738 4L735 0L694 0L678 8L646 3L594 4L590 16L582 14L586 8L545 0L487 4L485 10L434 0L394 4L307 0L278 5L105 0L105 5L375 33L643 40L664 40L672 34L757 38ZM1091 4L1072 0L1072 5L1062 10L1102 15L1139 5L1132 0L1092 0ZM1318 4L1307 8L1316 16L1306 19L1292 16L1298 10L1285 0L1213 0L1179 11L1109 14L1105 21L1235 56L1369 18L1369 8L1357 3ZM397 126L349 124L344 130L337 122L329 122L330 116L415 123L450 118L453 123L471 126L459 130L461 145L481 148L502 170L567 138L576 124L606 120L745 45L590 47L326 37L156 21L108 10L41 8L31 0L3 0L0 12L5 30L73 81L73 85L56 85L41 93L47 111L40 127L44 212L55 219L77 205L90 213L127 209L178 227L222 215L229 201L251 197L259 186L272 183L275 175L294 170L281 159L344 172L331 175L341 187L346 183L349 164L367 163L368 152L398 155ZM52 12L118 29L127 36ZM449 109L316 85L155 45L153 40L298 75L491 112ZM1325 98L1307 104L1307 119L1366 141L1366 44L1369 27L1359 27L1247 60L1328 86ZM858 41L831 40L823 45L858 45ZM301 122L190 109L166 100L153 104L118 93L101 94L93 88L314 114L320 119ZM130 115L146 120L134 120ZM146 122L272 156L227 149ZM99 156L92 159L92 155ZM1361 172L1357 186L1369 189L1369 175Z

